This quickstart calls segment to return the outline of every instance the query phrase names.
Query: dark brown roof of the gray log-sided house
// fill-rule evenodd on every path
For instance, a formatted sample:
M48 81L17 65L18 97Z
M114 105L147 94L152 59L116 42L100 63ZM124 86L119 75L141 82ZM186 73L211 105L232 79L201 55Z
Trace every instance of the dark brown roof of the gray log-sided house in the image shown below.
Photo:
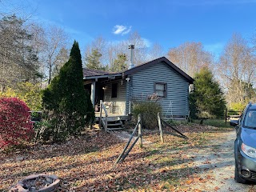
M114 78L118 76L126 76L128 74L134 74L138 72L139 70L146 69L147 67L154 66L158 64L159 62L166 63L167 66L169 66L171 69L176 71L178 74L181 74L183 78L186 78L187 82L193 83L194 79L191 78L188 74L186 74L183 70L179 69L178 66L175 66L174 63L170 62L167 58L157 58L150 62L142 63L139 66L134 66L130 70L125 70L120 73L110 73L102 70L90 70L90 69L83 69L83 76L84 79L94 79L94 78Z

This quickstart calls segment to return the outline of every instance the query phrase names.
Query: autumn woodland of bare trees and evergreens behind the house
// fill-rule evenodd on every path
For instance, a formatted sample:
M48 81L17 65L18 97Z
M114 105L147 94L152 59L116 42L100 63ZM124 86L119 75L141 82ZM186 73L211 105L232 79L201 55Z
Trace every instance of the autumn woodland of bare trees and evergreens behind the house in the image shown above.
M31 22L33 15L17 16L18 11L0 10L0 94L28 97L46 88L59 73L68 61L74 39L59 26L43 27ZM234 31L220 55L206 51L202 42L183 42L167 52L158 43L149 48L136 31L122 42L98 37L86 45L82 64L111 72L126 70L130 44L135 46L135 65L165 56L193 78L207 67L225 94L229 109L242 110L247 102L256 101L256 32L246 39ZM30 105L33 110L38 107L36 103Z

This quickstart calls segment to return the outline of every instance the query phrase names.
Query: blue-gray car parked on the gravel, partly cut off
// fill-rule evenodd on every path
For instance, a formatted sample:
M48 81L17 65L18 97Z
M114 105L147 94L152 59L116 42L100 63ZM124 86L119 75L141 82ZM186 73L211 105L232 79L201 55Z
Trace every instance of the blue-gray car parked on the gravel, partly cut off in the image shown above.
M238 120L231 120L237 138L234 141L234 180L256 182L256 103L249 103Z

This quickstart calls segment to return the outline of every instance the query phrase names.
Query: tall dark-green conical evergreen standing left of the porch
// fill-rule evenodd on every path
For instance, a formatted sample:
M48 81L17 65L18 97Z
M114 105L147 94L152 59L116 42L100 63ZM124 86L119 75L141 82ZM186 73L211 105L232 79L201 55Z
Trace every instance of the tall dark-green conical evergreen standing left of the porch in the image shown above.
M82 60L78 42L70 52L70 59L62 66L50 86L42 95L43 106L49 126L45 139L64 140L70 134L80 134L94 120L94 109L90 95L83 87Z

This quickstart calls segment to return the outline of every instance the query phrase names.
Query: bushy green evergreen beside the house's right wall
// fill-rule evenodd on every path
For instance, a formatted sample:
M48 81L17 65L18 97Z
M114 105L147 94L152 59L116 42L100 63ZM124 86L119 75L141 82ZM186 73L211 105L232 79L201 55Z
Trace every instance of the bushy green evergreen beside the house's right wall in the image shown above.
M191 117L221 118L226 102L218 82L211 71L204 67L195 74L194 90L190 93Z

